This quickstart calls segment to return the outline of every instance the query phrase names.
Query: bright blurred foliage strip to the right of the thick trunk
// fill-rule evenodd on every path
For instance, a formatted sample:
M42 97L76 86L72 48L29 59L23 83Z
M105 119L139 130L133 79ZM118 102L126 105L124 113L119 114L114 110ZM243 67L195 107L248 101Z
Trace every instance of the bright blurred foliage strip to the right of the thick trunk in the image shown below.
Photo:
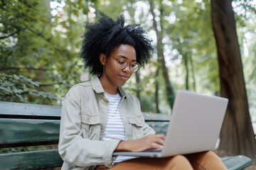
M250 114L256 115L256 5L247 0L233 4Z

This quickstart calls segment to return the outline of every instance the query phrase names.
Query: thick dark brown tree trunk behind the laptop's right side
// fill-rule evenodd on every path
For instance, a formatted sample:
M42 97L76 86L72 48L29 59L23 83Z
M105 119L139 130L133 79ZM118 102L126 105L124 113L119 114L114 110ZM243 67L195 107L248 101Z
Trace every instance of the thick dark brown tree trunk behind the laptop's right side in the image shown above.
M227 153L254 157L255 135L242 72L242 61L231 0L212 0L211 17L218 49L220 94L228 98L228 110L220 132L220 147Z

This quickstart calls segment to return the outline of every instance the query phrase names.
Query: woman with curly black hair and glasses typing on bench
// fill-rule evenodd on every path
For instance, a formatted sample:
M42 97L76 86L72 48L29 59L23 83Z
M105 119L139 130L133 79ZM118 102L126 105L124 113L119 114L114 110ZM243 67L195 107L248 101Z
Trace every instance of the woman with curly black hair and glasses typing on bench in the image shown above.
M169 158L112 157L113 152L161 149L164 135L154 135L139 100L122 86L154 50L138 25L124 26L100 13L87 23L82 60L96 78L73 86L63 101L59 153L62 169L225 169L213 152Z

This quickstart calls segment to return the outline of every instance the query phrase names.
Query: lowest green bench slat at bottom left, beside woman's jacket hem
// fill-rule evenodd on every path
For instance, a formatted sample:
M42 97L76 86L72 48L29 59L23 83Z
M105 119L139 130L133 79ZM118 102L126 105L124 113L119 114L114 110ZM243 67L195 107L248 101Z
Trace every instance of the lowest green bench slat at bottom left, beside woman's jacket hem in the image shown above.
M46 169L63 164L63 160L58 154L58 149L0 154L0 160L2 170Z

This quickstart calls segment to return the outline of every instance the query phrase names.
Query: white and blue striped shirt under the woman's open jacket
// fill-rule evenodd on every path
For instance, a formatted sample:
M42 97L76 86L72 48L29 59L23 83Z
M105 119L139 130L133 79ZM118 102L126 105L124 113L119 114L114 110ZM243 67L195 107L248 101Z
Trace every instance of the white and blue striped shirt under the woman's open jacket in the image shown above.
M119 93L105 93L105 96L109 101L109 108L107 115L107 126L102 140L127 140L125 136L124 123L119 113L119 105L122 97ZM113 161L113 164L134 158L135 157L118 156L117 159Z

